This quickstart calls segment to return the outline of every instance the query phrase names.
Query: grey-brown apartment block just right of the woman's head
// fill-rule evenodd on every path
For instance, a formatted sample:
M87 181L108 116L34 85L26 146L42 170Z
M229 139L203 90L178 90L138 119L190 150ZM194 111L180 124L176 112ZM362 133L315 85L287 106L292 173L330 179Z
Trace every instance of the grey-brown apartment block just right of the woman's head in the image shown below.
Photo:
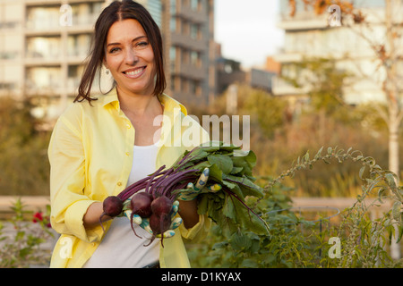
M169 92L184 103L209 105L215 97L213 0L166 0L164 29Z

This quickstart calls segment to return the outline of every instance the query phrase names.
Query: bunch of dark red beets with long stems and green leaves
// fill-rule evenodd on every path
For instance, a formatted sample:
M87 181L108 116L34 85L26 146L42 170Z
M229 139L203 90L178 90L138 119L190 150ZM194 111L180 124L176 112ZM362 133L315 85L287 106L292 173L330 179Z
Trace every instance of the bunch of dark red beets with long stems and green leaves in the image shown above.
M169 229L172 206L178 194L186 191L188 183L195 183L201 172L208 167L209 184L219 183L222 189L217 193L201 193L198 196L198 213L208 214L212 221L223 227L247 224L255 232L266 232L267 224L244 201L246 196L259 198L263 195L262 188L253 183L252 169L255 162L253 151L245 153L240 147L210 141L210 144L185 151L170 168L166 169L163 165L117 196L107 197L103 202L99 223L104 215L115 217L121 214L124 201L133 196L130 201L132 229L134 214L149 218L153 241L157 235ZM251 213L254 215L251 216ZM134 229L133 232L136 234ZM163 235L161 242L162 239Z

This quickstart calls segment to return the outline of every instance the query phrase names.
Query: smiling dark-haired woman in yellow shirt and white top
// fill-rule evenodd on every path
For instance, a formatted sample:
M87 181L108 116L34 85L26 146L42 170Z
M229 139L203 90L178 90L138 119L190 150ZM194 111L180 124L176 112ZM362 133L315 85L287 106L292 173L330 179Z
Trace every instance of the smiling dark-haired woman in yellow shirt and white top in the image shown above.
M92 97L101 68L113 76L114 87ZM113 2L96 22L79 95L56 122L48 147L51 223L62 234L51 267L190 266L183 238L201 240L210 228L197 214L196 199L180 200L183 223L163 248L159 240L144 247L150 233L136 225L137 238L124 216L106 217L106 231L99 225L107 196L209 139L184 105L163 94L165 87L158 26L141 4ZM189 131L200 135L197 144L182 136Z

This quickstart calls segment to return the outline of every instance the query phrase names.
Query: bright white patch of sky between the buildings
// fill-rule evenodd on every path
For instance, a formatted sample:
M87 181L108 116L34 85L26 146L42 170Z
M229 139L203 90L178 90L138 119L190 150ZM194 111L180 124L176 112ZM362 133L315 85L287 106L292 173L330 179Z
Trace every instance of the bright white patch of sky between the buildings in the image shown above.
M216 0L214 37L221 54L244 68L264 64L283 46L278 11L279 0Z

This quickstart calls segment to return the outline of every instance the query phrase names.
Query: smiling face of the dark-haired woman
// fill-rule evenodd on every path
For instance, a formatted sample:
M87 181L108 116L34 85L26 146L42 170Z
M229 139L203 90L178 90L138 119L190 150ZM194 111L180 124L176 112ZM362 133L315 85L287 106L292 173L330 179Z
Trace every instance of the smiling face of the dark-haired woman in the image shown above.
M133 19L116 21L107 33L105 66L124 93L151 95L156 68L154 53L141 24Z

